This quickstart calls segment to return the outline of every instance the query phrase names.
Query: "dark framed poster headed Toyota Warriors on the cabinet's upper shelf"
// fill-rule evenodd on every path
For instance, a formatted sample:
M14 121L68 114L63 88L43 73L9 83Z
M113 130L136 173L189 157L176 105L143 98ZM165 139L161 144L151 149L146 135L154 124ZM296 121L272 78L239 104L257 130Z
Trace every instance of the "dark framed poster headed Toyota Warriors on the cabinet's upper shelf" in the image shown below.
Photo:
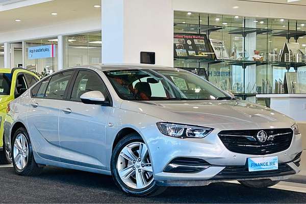
M205 34L174 34L173 46L174 58L212 59L214 57Z

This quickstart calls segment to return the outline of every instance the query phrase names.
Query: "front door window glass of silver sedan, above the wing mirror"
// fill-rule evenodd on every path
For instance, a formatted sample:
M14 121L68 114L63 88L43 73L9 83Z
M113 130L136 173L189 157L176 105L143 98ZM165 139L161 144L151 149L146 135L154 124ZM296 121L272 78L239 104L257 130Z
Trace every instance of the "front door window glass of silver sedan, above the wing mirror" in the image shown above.
M81 70L75 79L71 99L81 101L80 96L88 91L100 91L107 97L106 86L98 74Z

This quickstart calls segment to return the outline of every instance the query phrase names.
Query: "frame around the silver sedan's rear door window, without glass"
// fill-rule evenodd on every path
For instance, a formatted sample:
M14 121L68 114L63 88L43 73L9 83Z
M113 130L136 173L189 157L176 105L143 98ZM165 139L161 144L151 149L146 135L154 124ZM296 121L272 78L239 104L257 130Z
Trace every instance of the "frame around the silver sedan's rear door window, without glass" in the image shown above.
M33 90L36 86L39 86L39 88L38 88L38 90L39 90L39 89L40 89L40 86L42 85L42 83L45 82L45 81L47 81L47 80L49 80L48 85L47 85L47 88L48 88L50 81L52 80L52 78L53 78L55 75L60 74L60 73L63 73L63 72L67 72L67 71L72 71L72 74L71 74L70 79L69 79L69 81L68 81L68 84L67 84L67 86L66 86L66 89L65 89L63 98L46 98L46 97L36 97L36 96L33 96L32 90ZM67 93L68 93L68 90L69 90L69 88L70 88L71 82L72 82L73 79L74 79L73 77L74 77L75 71L77 71L77 70L74 70L74 69L65 69L65 70L57 71L57 72L55 72L55 73L49 75L46 79L40 81L38 84L36 84L35 86L33 86L33 87L31 88L31 90L30 90L30 92L31 92L31 98L50 99L50 100L67 100ZM44 95L46 94L47 88L46 88L46 90L44 91Z

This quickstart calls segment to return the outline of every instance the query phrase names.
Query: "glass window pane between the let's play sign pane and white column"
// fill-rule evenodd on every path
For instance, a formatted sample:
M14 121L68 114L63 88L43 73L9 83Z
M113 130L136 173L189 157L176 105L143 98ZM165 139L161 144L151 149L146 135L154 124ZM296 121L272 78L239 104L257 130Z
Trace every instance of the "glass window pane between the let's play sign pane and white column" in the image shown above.
M65 67L101 63L101 31L64 37Z

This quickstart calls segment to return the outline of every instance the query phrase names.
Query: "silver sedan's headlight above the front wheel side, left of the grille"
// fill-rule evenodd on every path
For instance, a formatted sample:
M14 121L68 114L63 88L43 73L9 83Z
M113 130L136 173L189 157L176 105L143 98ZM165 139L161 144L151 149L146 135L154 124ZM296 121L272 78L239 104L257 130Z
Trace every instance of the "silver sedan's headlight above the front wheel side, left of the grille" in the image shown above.
M162 134L182 139L204 138L214 130L210 127L190 126L167 122L157 122L156 125Z

